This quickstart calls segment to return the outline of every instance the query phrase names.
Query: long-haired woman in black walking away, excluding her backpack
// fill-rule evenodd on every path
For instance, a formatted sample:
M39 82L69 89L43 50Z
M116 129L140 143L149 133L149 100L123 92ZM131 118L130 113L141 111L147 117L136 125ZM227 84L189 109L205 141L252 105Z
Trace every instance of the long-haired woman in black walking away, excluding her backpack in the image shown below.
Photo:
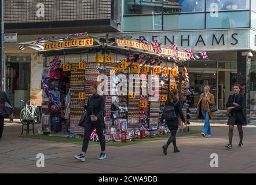
M181 120L185 123L185 117L181 109L181 103L178 101L178 90L174 89L170 92L170 97L168 98L168 101L166 102L166 106L174 106L175 113L177 118L174 120L166 120L166 124L171 131L171 137L167 141L166 145L163 146L163 153L164 155L167 155L167 149L171 143L173 143L174 146L174 153L180 152L176 146L176 134L178 130L178 116L180 115ZM161 123L163 123L164 116L162 115Z

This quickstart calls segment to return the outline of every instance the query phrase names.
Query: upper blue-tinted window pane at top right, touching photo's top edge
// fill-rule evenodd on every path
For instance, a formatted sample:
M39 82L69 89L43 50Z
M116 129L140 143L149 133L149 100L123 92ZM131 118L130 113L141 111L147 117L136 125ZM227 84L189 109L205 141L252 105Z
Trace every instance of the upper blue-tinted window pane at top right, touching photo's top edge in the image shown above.
M207 0L206 11L215 10L249 10L250 0Z

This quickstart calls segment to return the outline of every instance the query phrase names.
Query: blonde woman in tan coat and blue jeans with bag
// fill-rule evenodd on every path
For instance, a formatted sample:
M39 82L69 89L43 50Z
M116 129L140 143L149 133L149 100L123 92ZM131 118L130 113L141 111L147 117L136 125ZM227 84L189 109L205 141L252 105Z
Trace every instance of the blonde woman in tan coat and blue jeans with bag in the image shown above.
M211 108L213 108L214 104L214 95L210 93L210 86L204 86L204 93L200 95L196 110L196 119L205 120L204 130L201 133L204 138L211 136L210 120L214 119L213 112L215 112L215 110L211 110Z

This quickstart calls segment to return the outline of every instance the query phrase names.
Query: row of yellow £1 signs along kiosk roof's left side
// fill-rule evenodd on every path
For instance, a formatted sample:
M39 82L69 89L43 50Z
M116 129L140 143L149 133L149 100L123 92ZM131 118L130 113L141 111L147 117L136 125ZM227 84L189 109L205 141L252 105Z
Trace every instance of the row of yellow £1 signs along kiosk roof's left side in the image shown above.
M56 50L70 47L93 46L93 38L90 39L73 39L61 42L45 43L43 50Z

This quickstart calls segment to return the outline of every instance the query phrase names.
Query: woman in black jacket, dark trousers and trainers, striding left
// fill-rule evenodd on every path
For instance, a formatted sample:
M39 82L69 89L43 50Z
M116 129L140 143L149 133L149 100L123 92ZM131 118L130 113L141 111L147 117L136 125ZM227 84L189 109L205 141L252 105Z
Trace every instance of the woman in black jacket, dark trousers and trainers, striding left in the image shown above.
M83 147L82 153L75 156L75 158L79 161L85 162L85 153L87 151L90 136L96 128L96 132L98 138L100 140L101 153L98 157L98 160L104 160L107 156L105 155L105 135L104 135L104 112L105 112L105 99L104 97L98 95L97 93L97 85L92 84L90 86L90 91L92 93L92 97L90 97L87 101L86 106L86 116L83 121L83 127L85 128L85 136L83 139Z

